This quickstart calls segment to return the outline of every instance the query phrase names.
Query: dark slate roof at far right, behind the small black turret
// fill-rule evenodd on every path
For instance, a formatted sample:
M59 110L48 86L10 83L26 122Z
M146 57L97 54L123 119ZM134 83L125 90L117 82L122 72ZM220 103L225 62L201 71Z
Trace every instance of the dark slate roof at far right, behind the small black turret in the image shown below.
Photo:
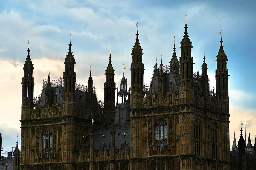
M246 154L246 169L256 170L255 155ZM230 151L230 170L239 170L238 152Z

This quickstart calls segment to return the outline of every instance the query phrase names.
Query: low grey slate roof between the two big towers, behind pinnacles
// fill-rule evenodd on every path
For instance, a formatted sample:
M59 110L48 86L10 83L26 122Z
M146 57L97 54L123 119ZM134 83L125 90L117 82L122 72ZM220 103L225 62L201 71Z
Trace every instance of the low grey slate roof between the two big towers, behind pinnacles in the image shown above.
M130 128L122 128L122 129L116 129L116 134L115 134L115 148L116 149L121 148L121 144L124 142L124 133L126 135L125 136L126 143L128 144L128 147L130 148ZM110 148L111 129L98 130L98 131L94 131L94 149L95 150L99 150L99 147L102 146L103 134L105 136L105 145L108 146L108 149ZM84 141L84 144L89 147L90 135L87 136L87 138Z

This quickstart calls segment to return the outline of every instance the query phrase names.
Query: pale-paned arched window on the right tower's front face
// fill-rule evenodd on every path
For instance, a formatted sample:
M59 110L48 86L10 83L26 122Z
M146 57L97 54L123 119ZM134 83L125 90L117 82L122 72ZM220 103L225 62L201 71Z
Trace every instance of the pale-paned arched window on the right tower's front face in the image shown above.
M168 133L167 133L167 122L164 119L157 120L156 124L156 145L167 145Z

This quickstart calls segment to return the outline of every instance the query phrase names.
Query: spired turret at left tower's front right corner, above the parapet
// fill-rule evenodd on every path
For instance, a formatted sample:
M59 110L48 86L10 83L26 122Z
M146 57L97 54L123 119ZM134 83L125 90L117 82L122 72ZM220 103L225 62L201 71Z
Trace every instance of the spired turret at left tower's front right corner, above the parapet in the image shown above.
M65 58L65 72L63 73L64 79L64 103L76 102L75 85L76 85L76 72L75 72L75 58L71 49L71 41L69 42L68 54Z

